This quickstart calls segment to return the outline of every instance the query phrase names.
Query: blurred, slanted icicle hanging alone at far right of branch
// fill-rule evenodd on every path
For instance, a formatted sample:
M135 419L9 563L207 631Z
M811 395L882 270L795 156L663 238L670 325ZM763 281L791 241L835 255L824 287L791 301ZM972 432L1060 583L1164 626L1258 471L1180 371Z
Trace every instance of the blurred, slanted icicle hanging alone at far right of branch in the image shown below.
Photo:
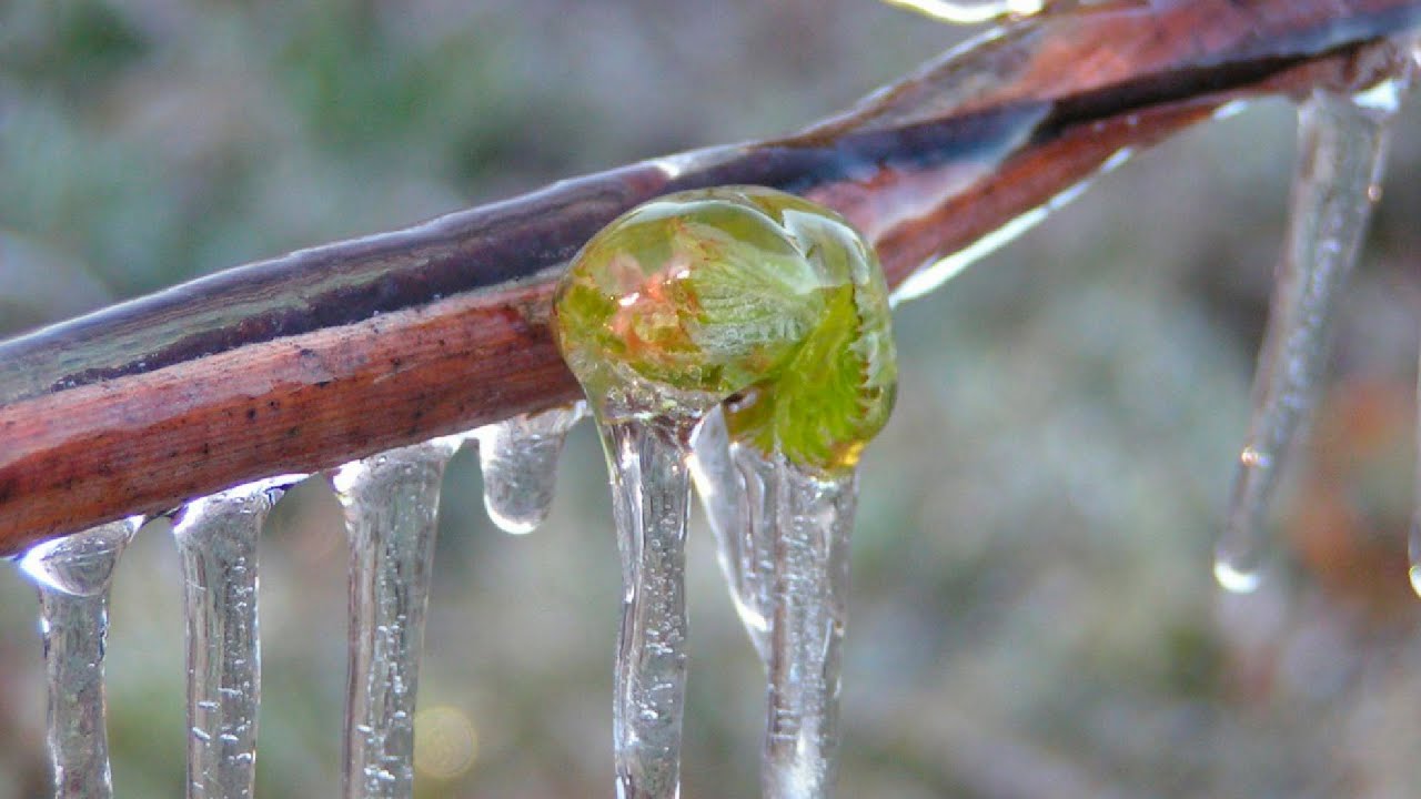
M1231 591L1258 587L1265 520L1279 469L1317 400L1329 330L1378 195L1387 124L1405 81L1356 95L1314 90L1299 107L1299 162L1289 230L1253 381L1253 418L1214 574Z

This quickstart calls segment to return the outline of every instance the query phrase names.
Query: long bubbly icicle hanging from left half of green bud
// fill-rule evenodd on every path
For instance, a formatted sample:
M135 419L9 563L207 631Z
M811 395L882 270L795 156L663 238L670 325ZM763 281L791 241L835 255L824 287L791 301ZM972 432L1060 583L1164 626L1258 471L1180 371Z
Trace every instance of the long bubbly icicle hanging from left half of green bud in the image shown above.
M692 425L669 417L598 425L622 566L612 704L622 799L681 795Z

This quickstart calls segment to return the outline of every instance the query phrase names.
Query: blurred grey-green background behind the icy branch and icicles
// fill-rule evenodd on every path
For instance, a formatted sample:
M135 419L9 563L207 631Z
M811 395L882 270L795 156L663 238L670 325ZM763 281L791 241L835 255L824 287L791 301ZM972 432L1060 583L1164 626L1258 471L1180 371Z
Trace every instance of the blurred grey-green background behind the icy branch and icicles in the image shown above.
M790 132L963 36L871 0L0 3L0 334ZM899 404L868 449L854 539L841 796L1415 793L1415 108L1276 508L1275 570L1248 597L1211 579L1293 149L1283 102L1195 129L898 310ZM503 535L479 498L465 452L442 506L418 795L610 796L618 567L593 431L570 439L546 529ZM330 492L290 492L263 547L259 793L333 796ZM699 516L688 559L684 795L755 796L763 675ZM114 586L119 796L182 795L180 630L156 522ZM33 590L0 570L0 799L45 795L40 655Z

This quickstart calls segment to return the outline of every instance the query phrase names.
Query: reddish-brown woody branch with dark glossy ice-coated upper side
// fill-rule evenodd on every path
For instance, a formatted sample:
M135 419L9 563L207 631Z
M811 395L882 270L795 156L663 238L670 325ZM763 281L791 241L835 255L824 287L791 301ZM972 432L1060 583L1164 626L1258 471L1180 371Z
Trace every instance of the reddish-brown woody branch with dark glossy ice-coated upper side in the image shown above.
M1360 88L1421 0L1155 0L1006 26L804 132L554 183L0 343L0 553L577 398L553 286L618 213L757 183L844 213L891 284L1124 149Z

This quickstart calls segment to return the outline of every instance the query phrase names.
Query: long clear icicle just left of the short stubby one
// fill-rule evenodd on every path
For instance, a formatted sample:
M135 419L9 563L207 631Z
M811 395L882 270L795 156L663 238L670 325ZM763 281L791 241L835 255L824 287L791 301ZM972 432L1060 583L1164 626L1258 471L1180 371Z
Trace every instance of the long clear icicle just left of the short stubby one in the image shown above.
M350 536L347 799L414 795L414 718L433 567L439 482L459 436L341 466Z

